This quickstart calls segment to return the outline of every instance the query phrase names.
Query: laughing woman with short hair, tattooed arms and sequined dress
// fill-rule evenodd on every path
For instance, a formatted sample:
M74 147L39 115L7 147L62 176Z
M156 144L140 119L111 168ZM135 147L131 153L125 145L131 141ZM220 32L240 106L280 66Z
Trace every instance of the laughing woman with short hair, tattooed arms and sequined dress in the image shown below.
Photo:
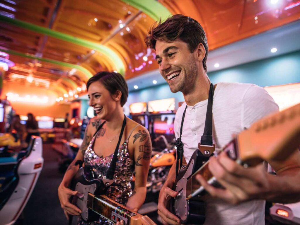
M123 113L123 105L128 97L128 87L121 74L99 72L88 80L86 86L89 105L94 107L97 118L90 120L85 129L82 146L58 187L61 207L64 209L67 219L69 214L79 215L80 209L69 202L69 197L77 193L68 188L79 167L75 166L75 162L83 160L85 167L91 169L95 177L104 177L125 119L126 126L119 146L114 182L108 188L106 195L137 211L146 198L147 174L152 151L149 132L143 126L125 117ZM93 137L97 128L104 121L103 127ZM130 182L134 171L136 177L132 191ZM85 224L81 217L78 219L78 224ZM93 224L113 223L101 217Z

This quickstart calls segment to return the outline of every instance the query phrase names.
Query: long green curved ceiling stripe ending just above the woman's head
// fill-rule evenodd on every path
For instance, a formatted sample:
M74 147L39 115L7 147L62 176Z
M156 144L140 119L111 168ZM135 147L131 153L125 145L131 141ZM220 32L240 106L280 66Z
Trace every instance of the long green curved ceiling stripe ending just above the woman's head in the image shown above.
M12 19L6 16L2 16L0 15L0 21L4 21L10 24L13 24L15 26L21 27L23 29L28 29L34 32L37 32L39 34L43 34L43 35L48 35L50 37L53 38L57 38L63 41L67 41L79 46L83 46L86 48L90 48L90 49L94 49L98 52L103 53L104 55L107 55L108 58L110 58L111 62L115 65L116 69L118 70L119 73L121 73L122 75L125 74L125 65L123 64L121 58L119 58L119 56L116 54L116 52L114 52L113 50L111 50L110 48L101 45L101 44L97 44L95 42L92 41L87 41L84 40L82 38L76 38L73 37L71 35L67 35L58 31L53 31L49 28L45 28L45 27L41 27L32 23L28 23L28 22L24 22L22 20L19 19Z

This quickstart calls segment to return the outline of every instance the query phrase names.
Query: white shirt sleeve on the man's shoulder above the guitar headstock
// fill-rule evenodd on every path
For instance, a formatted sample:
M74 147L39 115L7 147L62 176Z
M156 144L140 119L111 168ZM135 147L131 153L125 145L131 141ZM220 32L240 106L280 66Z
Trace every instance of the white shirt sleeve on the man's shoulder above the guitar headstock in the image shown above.
M249 128L257 120L279 110L265 88L251 85L245 92L241 107L241 126Z

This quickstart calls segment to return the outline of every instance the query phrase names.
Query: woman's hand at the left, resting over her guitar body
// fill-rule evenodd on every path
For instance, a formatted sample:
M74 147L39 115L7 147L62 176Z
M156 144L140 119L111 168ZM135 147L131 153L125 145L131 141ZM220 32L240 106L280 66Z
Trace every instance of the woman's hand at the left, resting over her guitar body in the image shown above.
M62 184L60 184L58 187L58 198L67 220L69 220L69 214L78 216L81 213L81 210L76 207L76 205L73 205L69 202L70 196L76 195L77 193L78 191L73 191Z

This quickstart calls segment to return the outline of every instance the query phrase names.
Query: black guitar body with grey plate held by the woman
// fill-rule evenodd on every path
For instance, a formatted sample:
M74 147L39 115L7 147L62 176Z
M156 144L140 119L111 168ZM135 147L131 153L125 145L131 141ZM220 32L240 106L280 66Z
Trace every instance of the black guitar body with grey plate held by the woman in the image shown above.
M78 191L79 194L73 196L73 198L71 197L70 202L81 209L82 213L80 215L82 220L89 223L99 220L100 216L91 209L87 208L88 193L92 193L94 195L105 194L107 188L101 188L104 187L104 184L101 185L101 182L103 183L102 180L88 180L85 174L84 167L81 167L73 177L70 189Z

